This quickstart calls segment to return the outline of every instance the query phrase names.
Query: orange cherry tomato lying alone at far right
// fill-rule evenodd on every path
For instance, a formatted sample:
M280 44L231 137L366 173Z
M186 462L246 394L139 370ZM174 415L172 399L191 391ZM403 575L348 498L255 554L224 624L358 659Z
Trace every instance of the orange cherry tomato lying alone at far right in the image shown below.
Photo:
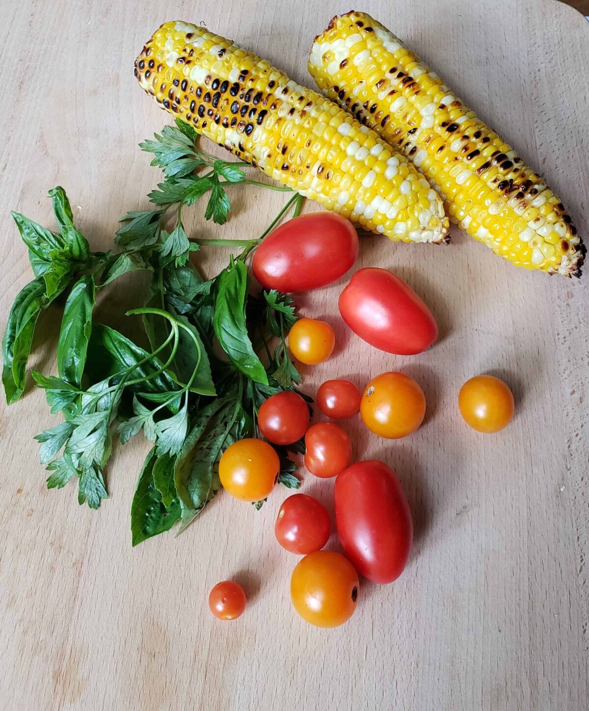
M475 375L460 388L458 407L465 422L477 432L499 432L514 416L514 396L493 375Z

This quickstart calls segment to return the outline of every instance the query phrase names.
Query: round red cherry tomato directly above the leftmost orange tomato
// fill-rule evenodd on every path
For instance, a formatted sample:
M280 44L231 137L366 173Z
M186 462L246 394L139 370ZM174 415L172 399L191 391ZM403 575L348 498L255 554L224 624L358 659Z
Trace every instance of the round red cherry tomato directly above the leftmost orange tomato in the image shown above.
M292 444L309 429L309 407L297 392L277 392L262 402L258 427L273 444Z

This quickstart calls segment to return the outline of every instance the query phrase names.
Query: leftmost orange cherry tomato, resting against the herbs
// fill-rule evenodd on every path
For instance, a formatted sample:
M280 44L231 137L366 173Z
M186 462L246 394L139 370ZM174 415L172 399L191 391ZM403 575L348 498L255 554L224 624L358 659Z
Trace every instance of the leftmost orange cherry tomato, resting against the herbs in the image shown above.
M272 491L280 460L262 439L240 439L225 449L219 461L219 479L225 491L241 501L261 501Z

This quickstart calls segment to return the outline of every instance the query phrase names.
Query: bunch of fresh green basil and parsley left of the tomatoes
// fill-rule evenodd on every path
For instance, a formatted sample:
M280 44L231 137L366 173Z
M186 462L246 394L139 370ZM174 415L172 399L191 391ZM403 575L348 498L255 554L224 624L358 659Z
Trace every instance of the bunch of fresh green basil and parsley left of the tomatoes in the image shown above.
M7 402L23 394L26 365L38 317L68 292L57 347L57 375L33 371L52 413L63 422L38 434L41 463L51 472L49 488L78 481L78 501L90 508L107 498L104 471L115 434L124 444L143 432L153 442L132 502L133 545L169 530L184 530L221 488L218 462L243 437L258 436L262 402L281 390L295 390L301 376L292 364L285 336L297 320L292 300L276 291L250 295L245 259L290 208L294 194L267 230L253 240L191 240L181 210L208 196L205 218L223 225L235 184L248 180L243 167L206 154L187 124L166 126L140 144L164 173L149 193L152 210L124 215L111 252L91 252L75 228L63 188L50 191L58 231L51 232L13 213L28 247L35 279L16 296L2 341L2 382ZM171 230L166 231L170 215ZM204 279L189 259L203 245L241 247L227 267ZM152 273L144 304L128 312L141 316L147 348L94 320L97 293L122 274ZM278 345L270 350L275 337ZM258 353L262 353L262 358ZM289 451L277 447L279 481L297 488ZM257 508L262 502L256 504Z

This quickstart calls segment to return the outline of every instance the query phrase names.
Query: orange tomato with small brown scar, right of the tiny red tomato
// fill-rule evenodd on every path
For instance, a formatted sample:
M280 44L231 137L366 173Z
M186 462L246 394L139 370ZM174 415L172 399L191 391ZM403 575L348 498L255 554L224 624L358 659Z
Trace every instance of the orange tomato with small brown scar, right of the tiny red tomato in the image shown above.
M425 395L408 375L381 373L366 385L360 415L366 427L379 437L407 437L423 422Z

